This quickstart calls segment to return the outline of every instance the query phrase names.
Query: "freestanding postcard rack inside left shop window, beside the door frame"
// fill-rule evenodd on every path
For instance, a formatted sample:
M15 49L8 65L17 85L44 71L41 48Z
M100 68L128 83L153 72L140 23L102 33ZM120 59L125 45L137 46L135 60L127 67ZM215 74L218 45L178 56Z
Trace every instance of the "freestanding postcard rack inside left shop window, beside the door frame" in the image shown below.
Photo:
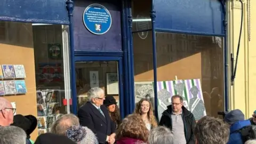
M52 124L60 116L61 106L59 87L38 87L37 97L37 121L38 135L51 131Z

